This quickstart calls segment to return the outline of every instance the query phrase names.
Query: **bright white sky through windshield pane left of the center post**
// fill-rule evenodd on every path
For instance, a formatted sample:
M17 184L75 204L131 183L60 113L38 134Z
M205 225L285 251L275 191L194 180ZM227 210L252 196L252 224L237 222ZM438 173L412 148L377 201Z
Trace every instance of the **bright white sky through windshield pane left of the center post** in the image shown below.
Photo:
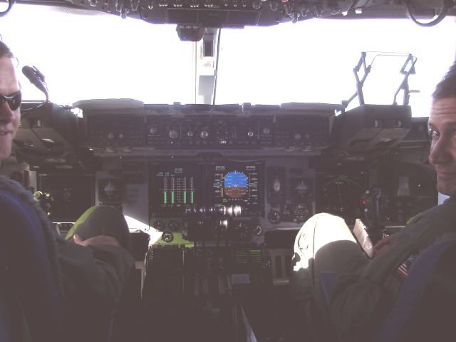
M0 25L19 67L33 65L46 76L53 102L192 102L194 48L179 40L175 26L19 4ZM43 98L25 77L21 83L25 99Z

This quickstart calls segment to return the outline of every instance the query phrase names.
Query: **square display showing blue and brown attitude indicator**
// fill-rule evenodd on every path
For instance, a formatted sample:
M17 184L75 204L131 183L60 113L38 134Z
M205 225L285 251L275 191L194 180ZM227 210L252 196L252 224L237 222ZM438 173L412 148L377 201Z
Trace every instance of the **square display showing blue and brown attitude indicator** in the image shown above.
M215 206L240 205L242 215L262 215L263 164L219 162L211 165L212 202Z

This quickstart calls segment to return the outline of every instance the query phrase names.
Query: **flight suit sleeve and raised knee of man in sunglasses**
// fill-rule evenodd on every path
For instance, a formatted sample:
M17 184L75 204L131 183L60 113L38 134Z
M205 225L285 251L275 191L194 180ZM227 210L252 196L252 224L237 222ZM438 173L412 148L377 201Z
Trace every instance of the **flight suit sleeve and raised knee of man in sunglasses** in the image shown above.
M73 234L82 239L103 234L115 237L122 246L83 247L63 239L57 241L68 319L81 326L71 333L72 341L106 341L134 264L128 251L128 225L118 209L94 206L81 215L73 228L67 234L68 239Z

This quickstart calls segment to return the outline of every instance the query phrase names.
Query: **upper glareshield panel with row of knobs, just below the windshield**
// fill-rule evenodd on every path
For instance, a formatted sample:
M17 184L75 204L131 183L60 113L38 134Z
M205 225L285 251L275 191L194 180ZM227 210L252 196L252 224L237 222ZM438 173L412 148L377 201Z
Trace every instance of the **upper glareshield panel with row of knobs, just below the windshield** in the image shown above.
M83 140L103 150L328 146L337 105L145 105L86 109Z

